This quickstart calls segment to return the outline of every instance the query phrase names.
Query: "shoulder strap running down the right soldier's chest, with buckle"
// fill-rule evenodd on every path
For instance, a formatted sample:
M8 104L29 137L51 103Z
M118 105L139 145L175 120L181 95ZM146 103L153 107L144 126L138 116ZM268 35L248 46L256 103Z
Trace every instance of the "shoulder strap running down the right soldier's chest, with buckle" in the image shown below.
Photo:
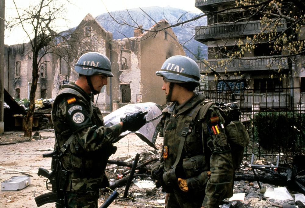
M213 103L214 102L212 100L204 100L199 105L197 105L196 108L194 108L191 111L192 120L195 121L195 118L199 111L203 113L203 114L200 113L200 118L199 118L199 119L202 119L204 117L204 115L206 114L206 112L208 111L208 109L210 108L210 106L213 105ZM177 157L176 157L174 164L172 165L172 168L176 167L180 161L182 150L184 147L185 138L186 138L187 134L192 131L190 129L190 124L191 124L191 122L186 124L184 127L182 127L181 139L180 139L180 143L179 143L179 147L178 147L178 151L177 151Z

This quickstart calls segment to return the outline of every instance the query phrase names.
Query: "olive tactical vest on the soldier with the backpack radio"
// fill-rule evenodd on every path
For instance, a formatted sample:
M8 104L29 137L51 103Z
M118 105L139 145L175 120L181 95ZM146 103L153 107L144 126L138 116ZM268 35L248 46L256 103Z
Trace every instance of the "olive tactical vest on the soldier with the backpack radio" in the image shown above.
M163 181L166 185L175 187L177 179L184 178L190 189L201 191L205 188L208 180L206 171L210 170L210 163L209 156L206 158L200 122L212 104L211 100L205 99L189 112L179 115L175 114L175 106L163 110L164 117L167 117L163 129L163 157L164 151L167 151L167 158L163 162L166 171ZM178 135L180 139L177 139Z

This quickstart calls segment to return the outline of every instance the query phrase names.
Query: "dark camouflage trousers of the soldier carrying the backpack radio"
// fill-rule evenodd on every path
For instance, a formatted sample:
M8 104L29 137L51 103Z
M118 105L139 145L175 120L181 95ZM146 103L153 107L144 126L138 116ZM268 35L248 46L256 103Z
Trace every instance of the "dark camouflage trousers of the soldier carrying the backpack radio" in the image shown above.
M167 199L166 208L200 208L205 196L205 190L199 192L182 192L180 190L174 190L169 194Z

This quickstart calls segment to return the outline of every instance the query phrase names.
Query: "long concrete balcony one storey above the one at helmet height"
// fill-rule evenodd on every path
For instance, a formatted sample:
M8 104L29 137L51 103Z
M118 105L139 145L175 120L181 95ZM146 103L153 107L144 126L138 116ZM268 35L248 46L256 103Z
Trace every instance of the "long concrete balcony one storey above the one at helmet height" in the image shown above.
M277 21L277 20L275 20ZM274 30L277 32L287 29L286 20L282 19L280 22L274 23L277 25ZM195 27L195 40L200 42L212 41L217 39L240 38L246 35L259 34L264 28L260 20L239 22L239 23L221 23L208 26ZM272 30L272 24L270 25ZM264 31L268 32L267 30Z

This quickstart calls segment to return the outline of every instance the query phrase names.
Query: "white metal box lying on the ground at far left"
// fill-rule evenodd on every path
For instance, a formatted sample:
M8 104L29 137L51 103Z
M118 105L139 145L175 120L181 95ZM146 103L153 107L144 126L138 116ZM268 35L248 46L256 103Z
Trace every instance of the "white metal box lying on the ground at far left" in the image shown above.
M18 191L30 184L30 176L13 176L1 183L1 191Z

